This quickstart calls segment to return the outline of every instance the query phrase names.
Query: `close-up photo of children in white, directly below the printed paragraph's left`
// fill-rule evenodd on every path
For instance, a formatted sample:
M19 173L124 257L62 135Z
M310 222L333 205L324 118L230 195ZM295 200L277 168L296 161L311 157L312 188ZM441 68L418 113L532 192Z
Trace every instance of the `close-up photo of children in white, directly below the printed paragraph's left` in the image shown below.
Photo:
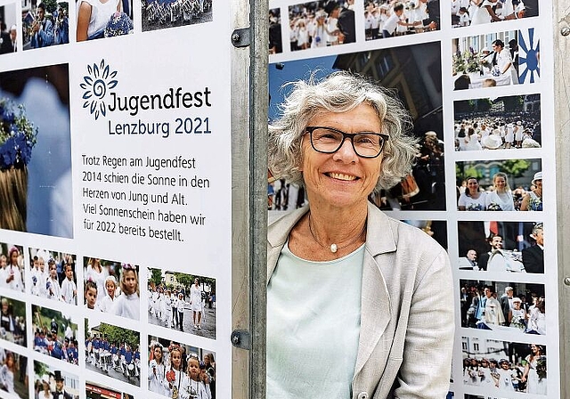
M85 308L139 320L139 266L97 257L83 262Z

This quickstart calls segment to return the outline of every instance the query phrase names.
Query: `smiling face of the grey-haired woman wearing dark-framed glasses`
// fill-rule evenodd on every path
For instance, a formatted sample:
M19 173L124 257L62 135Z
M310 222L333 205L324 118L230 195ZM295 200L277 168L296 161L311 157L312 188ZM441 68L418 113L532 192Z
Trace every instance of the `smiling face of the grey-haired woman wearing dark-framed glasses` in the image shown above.
M325 111L309 120L307 126L334 127L346 133L382 133L382 126L369 105L361 104L347 112ZM351 207L366 204L378 183L382 154L364 159L356 155L350 140L332 154L314 151L310 134L303 136L300 170L312 206Z

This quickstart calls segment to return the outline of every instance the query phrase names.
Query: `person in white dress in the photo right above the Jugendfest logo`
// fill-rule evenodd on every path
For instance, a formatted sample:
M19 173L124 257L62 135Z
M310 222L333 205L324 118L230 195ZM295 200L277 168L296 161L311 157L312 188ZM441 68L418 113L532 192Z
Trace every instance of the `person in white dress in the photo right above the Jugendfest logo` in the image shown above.
M115 12L121 12L119 0L77 1L77 42L102 38Z

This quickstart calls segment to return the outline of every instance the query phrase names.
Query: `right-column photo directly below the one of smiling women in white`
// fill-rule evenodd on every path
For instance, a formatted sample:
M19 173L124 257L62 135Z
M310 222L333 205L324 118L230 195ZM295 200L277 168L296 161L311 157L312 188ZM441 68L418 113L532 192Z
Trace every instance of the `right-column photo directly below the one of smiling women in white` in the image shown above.
M458 222L459 270L544 273L544 227L533 222Z

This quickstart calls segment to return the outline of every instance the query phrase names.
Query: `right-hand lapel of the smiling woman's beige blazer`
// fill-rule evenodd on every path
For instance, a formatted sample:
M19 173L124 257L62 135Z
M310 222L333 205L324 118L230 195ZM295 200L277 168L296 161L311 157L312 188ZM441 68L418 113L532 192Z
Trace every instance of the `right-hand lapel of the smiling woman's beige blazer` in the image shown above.
M362 370L390 322L391 305L382 270L392 267L391 256L382 256L396 249L389 218L369 203L366 252L362 270L362 310L358 356L354 374Z

